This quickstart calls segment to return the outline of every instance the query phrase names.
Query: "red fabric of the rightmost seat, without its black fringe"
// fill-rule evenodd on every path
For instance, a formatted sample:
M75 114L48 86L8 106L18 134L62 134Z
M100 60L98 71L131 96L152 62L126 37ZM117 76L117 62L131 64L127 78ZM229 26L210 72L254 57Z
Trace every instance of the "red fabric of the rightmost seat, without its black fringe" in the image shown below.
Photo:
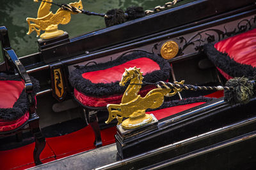
M216 43L214 47L219 52L227 53L239 64L256 67L256 29L224 39ZM225 78L232 78L221 69L219 71Z

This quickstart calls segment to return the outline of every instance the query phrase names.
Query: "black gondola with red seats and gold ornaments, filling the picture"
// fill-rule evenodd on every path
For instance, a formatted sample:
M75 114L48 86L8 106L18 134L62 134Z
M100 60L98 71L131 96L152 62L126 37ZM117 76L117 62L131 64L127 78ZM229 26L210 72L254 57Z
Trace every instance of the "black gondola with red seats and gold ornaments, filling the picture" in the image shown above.
M40 38L24 57L1 26L1 103L26 110L4 117L12 104L1 106L0 169L253 169L255 3L188 1L74 38ZM138 81L120 87L138 67ZM230 80L245 90L230 93ZM166 97L170 85L176 95ZM132 95L149 96L129 108L147 109L148 124L122 123Z

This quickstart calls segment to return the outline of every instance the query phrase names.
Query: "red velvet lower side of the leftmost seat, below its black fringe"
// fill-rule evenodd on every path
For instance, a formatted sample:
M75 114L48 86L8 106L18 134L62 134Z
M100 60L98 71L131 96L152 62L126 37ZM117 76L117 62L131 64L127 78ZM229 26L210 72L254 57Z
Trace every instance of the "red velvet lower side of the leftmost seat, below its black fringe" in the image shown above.
M13 129L16 129L24 124L28 118L29 112L26 112L25 115L18 118L17 120L8 121L0 119L0 132L12 131Z

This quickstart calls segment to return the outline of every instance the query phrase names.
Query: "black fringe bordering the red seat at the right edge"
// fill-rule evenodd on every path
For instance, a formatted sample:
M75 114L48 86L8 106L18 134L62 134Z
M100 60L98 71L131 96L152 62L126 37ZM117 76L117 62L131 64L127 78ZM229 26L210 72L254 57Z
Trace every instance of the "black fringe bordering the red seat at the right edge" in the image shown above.
M236 62L227 53L219 52L211 43L204 45L204 52L216 67L232 77L253 77L256 75L255 67Z

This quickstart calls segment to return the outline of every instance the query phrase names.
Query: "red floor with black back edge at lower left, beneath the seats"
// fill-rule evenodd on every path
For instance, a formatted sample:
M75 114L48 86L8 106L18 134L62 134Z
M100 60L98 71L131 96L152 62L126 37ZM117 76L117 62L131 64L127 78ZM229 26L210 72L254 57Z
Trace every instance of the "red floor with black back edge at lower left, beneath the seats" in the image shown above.
M90 125L79 129L78 131L68 133L68 131L74 131L74 127L84 126L81 119L74 119L72 121L64 122L62 124L52 125L50 127L45 127L42 129L46 137L46 146L41 155L41 160L43 163L51 162L53 160L62 159L63 157L68 157L70 155L75 155L77 153L85 152L95 148L93 145L94 133ZM71 127L67 129L67 127ZM62 130L62 131L61 131ZM52 134L63 136L49 137ZM102 135L102 145L106 146L111 143L115 143L115 133L116 127L111 127L101 131ZM0 148L0 164L1 169L27 169L29 167L34 167L33 163L33 150L35 143L33 142L33 137L31 134L24 134L22 141L23 146L17 147L17 143L9 143L9 145L2 145ZM12 138L15 136L10 136L10 141L13 141ZM4 139L0 143L5 143L8 138ZM28 144L29 143L29 144ZM10 147L9 150L4 150L6 147ZM15 148L11 148L15 147ZM13 161L15 160L15 161Z

